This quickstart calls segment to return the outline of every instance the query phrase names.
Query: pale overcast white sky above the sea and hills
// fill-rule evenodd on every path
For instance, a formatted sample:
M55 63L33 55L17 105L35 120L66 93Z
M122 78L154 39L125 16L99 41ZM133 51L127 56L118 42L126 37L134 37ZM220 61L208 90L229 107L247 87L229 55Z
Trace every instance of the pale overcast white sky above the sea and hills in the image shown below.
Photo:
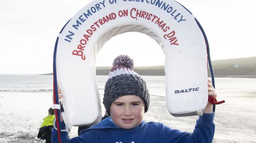
M256 56L255 0L177 1L204 28L211 60ZM57 35L90 2L0 0L0 74L52 73ZM120 54L128 54L135 66L164 65L163 51L153 39L129 32L113 37L102 47L96 66L111 66Z

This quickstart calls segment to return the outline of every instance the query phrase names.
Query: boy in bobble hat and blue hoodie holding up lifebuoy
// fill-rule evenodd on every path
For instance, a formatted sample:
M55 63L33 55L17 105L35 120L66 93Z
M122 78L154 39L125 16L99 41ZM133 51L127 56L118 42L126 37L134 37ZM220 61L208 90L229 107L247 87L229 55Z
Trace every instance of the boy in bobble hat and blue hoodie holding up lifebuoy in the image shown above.
M58 93L61 93L59 90ZM208 81L208 95L217 97ZM61 96L59 96L61 98ZM215 125L212 105L207 104L204 115L196 121L193 133L181 132L162 123L143 121L149 107L149 94L144 80L133 71L133 60L127 55L114 59L105 85L103 104L110 117L81 131L79 137L68 138L61 132L62 143L193 143L212 142ZM61 123L61 128L65 125ZM52 130L52 141L58 142L57 131Z

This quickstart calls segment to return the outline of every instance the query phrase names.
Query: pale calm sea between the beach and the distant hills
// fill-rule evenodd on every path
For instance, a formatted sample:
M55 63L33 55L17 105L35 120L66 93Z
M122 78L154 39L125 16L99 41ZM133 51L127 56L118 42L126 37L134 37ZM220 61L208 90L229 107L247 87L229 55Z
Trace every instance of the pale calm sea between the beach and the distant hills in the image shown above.
M165 96L165 76L142 76L149 93ZM99 93L104 93L108 76L96 76ZM215 78L215 87L221 91L251 90L256 88L256 78ZM1 92L52 92L52 75L0 74Z

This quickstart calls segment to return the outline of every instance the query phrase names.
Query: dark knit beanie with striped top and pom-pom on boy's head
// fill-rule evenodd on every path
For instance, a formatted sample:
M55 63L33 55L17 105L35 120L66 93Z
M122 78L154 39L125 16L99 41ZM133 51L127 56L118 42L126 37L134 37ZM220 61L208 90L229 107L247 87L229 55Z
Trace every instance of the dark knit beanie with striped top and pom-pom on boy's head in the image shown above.
M145 113L149 107L149 94L145 81L133 71L133 59L128 55L119 55L114 59L108 81L105 85L103 104L108 115L110 106L118 97L136 95L145 104Z

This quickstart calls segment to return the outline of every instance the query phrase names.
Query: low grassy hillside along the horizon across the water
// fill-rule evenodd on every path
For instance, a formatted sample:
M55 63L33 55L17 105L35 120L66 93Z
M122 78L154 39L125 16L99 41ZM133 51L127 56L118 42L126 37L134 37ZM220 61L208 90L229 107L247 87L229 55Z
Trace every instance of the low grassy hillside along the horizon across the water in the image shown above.
M212 61L215 77L251 77L256 78L256 57L221 59ZM108 75L111 66L96 67L97 75ZM208 67L209 69L209 67ZM135 67L139 75L164 76L164 66L142 66ZM52 74L52 73L50 73ZM208 70L210 76L210 71Z

